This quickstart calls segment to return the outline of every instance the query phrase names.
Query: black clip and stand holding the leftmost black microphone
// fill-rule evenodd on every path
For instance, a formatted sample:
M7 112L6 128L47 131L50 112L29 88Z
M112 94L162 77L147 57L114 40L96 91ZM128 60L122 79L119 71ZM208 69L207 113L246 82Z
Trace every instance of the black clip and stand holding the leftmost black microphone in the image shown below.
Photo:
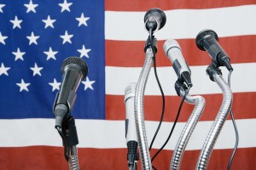
M76 145L79 144L79 138L77 133L77 128L75 126L74 116L71 116L71 111L77 94L75 91L70 90L67 97L67 116L57 117L55 128L58 130L58 133L61 135L62 144L64 146L64 156L69 164L70 170L79 170L79 158L77 153ZM57 100L59 98L59 93L56 94L55 103L53 105L53 113L55 115L55 108L57 105ZM62 121L63 120L63 121ZM61 123L61 126L60 126Z

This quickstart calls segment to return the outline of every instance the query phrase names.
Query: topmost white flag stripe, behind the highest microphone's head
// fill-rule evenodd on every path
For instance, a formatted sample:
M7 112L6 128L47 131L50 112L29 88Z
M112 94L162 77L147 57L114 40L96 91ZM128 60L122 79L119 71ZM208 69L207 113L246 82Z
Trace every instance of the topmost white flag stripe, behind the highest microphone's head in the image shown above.
M227 8L176 9L165 11L166 26L155 33L158 40L195 38L199 31L212 29L218 37L255 35L256 5ZM105 38L108 40L143 41L145 12L105 12Z

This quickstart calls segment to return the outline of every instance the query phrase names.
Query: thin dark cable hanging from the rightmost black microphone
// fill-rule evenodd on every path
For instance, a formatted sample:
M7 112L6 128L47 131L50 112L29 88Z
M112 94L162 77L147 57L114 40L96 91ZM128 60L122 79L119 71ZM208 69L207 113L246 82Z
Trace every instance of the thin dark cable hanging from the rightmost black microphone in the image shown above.
M228 77L228 84L229 84L229 86L231 85L231 73L232 73L232 71L230 71L229 77ZM230 157L230 161L229 161L228 168L227 168L228 170L230 170L231 163L232 163L233 158L234 158L234 156L236 154L237 146L238 146L238 143L239 143L239 134L238 134L238 130L237 130L237 127L236 127L235 117L234 117L232 108L231 108L231 111L230 111L230 116L231 116L231 119L232 119L232 122L233 122L233 125L234 125L234 128L235 128L235 132L236 132L236 144L235 144L233 153L232 153L232 155Z

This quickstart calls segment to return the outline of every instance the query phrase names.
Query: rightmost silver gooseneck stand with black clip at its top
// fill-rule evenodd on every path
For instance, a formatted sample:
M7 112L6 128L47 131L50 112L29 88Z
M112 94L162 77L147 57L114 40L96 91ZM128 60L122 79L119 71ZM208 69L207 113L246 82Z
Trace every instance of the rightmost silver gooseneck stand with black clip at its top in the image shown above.
M203 144L203 148L201 149L201 154L199 156L198 162L196 164L196 169L207 169L207 164L212 154L213 146L218 139L218 135L224 126L224 122L230 112L232 105L232 92L222 77L222 73L220 69L218 69L219 65L212 60L212 64L207 67L207 74L213 82L216 82L221 88L224 99L222 105L218 111L218 115L215 118L215 121L212 124L212 127L207 135L207 139Z

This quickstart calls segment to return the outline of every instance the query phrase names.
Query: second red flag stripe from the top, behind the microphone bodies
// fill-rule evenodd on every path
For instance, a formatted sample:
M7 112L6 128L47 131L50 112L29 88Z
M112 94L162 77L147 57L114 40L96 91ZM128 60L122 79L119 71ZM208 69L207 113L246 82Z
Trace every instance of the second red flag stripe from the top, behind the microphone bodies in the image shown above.
M123 67L141 67L145 60L143 41L113 41L106 40L106 65ZM171 61L166 57L163 44L158 41L156 54L157 66L170 66ZM211 58L207 52L201 51L195 45L195 39L178 39L183 56L188 65L209 65ZM239 42L239 43L238 43ZM256 62L256 36L220 37L219 43L230 55L231 63Z

